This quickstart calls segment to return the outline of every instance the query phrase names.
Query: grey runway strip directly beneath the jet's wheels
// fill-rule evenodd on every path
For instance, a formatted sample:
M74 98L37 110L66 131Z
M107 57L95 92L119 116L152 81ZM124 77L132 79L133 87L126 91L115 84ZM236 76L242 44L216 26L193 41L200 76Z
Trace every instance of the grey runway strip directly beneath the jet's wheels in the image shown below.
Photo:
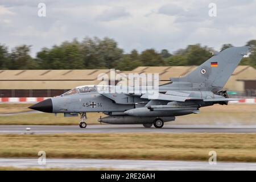
M29 128L30 130L26 130ZM0 125L0 134L57 134L57 133L256 133L256 126L166 125L162 129L142 125Z

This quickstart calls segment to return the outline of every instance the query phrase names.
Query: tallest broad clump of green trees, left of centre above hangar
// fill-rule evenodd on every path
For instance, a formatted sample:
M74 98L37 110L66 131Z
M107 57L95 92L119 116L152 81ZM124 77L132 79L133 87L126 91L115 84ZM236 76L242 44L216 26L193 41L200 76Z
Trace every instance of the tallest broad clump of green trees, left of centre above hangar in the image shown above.
M44 69L106 69L114 68L122 53L113 39L85 38L43 48L37 60Z

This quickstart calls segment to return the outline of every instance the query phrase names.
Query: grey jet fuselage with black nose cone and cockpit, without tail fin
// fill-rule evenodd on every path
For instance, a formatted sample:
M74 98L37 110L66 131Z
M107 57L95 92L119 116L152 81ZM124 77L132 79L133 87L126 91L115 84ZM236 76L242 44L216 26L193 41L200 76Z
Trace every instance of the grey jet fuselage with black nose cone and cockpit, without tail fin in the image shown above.
M149 102L156 100L148 100L141 98L142 94L146 93L147 88L123 87L122 92L118 88L118 93L115 92L115 86L102 85L84 85L78 86L61 96L49 98L46 101L39 102L31 106L31 109L40 110L48 113L89 113L102 112L108 115L134 115L140 117L162 117L162 116L176 116L194 113L193 110L170 109L162 111L152 111L147 109ZM149 87L148 87L149 88ZM155 93L166 93L170 90L175 92L176 85L173 86L159 86ZM150 88L152 90L152 88ZM179 91L179 90L177 90ZM190 94L196 98L214 97L210 91L202 91L193 88L191 90L183 90L183 93ZM170 101L158 101L155 105L168 104ZM189 101L187 102L189 104ZM201 106L208 106L210 104L201 103ZM49 108L47 108L49 107ZM131 110L131 112L127 112Z

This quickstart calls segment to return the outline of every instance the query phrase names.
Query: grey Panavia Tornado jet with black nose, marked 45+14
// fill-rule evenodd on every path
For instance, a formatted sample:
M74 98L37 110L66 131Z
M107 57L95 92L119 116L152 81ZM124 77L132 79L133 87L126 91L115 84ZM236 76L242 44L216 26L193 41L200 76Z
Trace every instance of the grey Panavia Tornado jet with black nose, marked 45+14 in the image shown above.
M99 122L161 128L164 122L174 121L176 116L199 113L200 107L227 105L228 101L239 100L229 98L227 91L222 88L248 49L232 47L213 53L209 60L191 73L170 78L167 84L159 85L157 97L130 92L129 89L122 93L106 92L114 85L84 85L29 108L46 113L64 113L64 117L80 114L81 128L86 127L86 113L89 112L108 115L99 118Z

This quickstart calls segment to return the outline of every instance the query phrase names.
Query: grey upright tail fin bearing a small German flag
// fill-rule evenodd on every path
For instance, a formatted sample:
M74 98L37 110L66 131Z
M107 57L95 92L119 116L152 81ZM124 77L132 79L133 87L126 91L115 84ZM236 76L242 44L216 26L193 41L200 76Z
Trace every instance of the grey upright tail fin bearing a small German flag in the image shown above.
M207 61L193 70L182 80L192 83L204 83L209 90L220 90L240 63L242 57L247 54L250 47L231 47L218 52Z

